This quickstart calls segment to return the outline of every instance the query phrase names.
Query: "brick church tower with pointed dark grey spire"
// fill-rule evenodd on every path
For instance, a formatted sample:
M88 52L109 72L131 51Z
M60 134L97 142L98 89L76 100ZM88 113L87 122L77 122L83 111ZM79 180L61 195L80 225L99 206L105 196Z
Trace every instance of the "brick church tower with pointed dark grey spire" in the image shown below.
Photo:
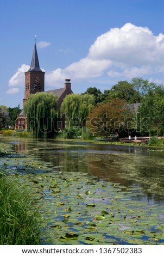
M29 94L45 92L45 72L40 69L39 59L36 50L36 41L34 45L33 56L31 59L30 69L25 74L24 103L28 99Z

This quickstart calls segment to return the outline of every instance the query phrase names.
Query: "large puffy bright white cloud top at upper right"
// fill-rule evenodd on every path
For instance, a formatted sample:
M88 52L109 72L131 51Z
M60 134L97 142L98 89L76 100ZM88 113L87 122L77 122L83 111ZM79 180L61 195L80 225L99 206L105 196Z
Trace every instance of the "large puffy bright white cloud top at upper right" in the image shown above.
M120 29L112 28L98 36L90 47L89 57L110 59L116 65L162 63L163 47L164 35L154 36L148 28L127 23Z

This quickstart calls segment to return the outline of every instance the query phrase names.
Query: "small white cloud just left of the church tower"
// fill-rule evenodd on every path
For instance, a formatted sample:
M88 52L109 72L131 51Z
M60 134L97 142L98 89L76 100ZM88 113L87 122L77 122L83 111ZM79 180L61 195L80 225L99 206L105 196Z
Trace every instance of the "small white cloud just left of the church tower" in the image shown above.
M18 68L16 73L10 78L9 86L24 86L24 72L27 72L29 68L29 65L22 64L21 68Z

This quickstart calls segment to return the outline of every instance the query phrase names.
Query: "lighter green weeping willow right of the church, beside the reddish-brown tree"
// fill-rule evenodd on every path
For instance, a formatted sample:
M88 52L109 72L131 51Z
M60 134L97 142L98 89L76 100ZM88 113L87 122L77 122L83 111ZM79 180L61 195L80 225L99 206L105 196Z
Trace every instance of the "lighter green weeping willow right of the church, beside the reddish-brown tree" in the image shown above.
M90 94L69 94L61 104L60 114L65 114L69 120L81 127L95 106L94 96Z

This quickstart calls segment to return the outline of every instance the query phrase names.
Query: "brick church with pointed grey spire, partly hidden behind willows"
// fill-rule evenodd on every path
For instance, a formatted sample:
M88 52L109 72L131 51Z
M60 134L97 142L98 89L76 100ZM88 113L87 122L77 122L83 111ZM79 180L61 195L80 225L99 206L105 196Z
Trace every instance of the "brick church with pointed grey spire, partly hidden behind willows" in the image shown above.
M33 56L31 59L30 68L25 74L25 87L24 87L24 103L28 100L29 94L45 92L45 72L40 69L39 58L37 56L36 41L34 45ZM46 93L55 94L58 98L57 100L57 109L60 109L61 103L64 100L65 96L72 94L71 90L71 80L66 79L63 88L48 90ZM23 114L22 111L18 114L16 119L15 129L27 129L27 117Z

